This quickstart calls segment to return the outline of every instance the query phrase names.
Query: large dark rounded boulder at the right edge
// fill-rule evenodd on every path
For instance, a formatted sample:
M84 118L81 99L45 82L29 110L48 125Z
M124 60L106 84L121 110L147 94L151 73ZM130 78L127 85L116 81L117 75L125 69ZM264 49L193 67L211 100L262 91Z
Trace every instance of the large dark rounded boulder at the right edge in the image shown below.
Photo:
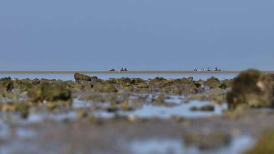
M260 71L249 69L233 80L231 92L227 94L228 107L234 109L239 104L272 107L273 94L272 81Z

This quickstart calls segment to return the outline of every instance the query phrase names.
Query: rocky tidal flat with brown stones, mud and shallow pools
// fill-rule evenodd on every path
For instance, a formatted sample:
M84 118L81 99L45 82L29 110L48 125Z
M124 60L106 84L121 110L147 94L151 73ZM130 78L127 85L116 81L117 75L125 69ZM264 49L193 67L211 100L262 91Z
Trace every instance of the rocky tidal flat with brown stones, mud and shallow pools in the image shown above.
M0 153L274 153L271 73L36 75L1 74Z

